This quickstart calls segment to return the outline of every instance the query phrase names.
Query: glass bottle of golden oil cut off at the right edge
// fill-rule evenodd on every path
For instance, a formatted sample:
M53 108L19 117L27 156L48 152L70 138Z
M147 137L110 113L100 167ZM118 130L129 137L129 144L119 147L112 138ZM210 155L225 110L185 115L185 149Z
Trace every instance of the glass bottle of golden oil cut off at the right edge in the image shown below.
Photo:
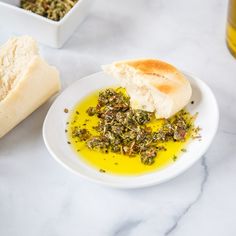
M236 57L236 0L229 0L226 42L232 55Z

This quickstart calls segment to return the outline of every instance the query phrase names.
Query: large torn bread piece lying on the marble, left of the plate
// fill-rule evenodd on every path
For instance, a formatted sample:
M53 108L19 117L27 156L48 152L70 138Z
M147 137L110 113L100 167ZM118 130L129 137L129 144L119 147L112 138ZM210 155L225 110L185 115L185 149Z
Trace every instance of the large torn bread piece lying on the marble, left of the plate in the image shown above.
M40 56L28 36L0 48L0 137L60 89L59 72Z

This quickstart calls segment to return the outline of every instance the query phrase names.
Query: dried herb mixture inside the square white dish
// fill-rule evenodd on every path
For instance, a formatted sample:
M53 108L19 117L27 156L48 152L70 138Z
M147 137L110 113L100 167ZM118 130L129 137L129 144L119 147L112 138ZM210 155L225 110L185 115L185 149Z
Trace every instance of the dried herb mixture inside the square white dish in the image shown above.
M48 19L59 21L78 0L22 0L20 7Z

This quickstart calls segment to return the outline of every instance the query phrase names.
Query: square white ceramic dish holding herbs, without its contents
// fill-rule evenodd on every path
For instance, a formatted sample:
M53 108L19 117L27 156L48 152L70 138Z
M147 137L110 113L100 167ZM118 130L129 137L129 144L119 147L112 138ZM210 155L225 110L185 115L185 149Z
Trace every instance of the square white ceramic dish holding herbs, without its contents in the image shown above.
M60 48L87 16L92 1L79 0L60 21L20 8L19 0L0 1L0 25L14 33L28 34L43 44Z

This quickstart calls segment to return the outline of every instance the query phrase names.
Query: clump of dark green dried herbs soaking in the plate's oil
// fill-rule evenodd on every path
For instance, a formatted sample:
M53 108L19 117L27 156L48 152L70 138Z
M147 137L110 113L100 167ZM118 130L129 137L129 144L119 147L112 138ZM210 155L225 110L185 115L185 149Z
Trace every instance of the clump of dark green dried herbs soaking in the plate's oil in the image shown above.
M148 124L155 119L154 113L132 109L130 98L119 89L100 92L96 107L89 107L87 114L98 118L93 127L96 135L86 128L73 127L72 137L95 151L139 156L145 165L152 165L158 152L166 150L165 142L184 142L194 128L194 119L189 119L189 113L182 110L170 119L163 119L159 129L152 130Z

